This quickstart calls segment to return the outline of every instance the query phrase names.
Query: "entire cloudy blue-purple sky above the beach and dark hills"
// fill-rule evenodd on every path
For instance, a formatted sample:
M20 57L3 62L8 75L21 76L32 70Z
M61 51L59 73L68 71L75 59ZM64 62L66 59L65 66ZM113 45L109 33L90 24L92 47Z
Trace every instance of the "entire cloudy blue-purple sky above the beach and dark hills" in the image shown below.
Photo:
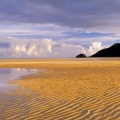
M120 42L120 0L0 0L0 58L90 56Z

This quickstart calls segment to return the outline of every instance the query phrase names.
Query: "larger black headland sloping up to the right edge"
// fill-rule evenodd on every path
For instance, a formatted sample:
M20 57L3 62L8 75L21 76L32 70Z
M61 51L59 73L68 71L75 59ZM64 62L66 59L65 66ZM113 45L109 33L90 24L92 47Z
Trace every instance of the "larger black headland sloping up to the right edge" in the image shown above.
M102 49L90 57L120 57L120 43L116 43L109 48Z

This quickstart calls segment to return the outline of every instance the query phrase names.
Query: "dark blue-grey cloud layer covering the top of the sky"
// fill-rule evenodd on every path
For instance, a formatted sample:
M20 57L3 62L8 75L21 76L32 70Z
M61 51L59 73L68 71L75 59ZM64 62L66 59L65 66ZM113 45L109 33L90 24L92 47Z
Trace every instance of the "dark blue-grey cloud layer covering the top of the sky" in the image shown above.
M119 0L0 0L0 21L92 28L120 24Z

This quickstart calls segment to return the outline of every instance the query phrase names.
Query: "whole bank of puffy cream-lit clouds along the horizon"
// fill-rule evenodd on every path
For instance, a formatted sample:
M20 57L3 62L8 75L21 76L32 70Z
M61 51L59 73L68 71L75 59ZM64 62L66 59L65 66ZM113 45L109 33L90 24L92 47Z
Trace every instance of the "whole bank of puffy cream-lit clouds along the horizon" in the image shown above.
M2 38L0 40L1 58L48 58L48 57L75 57L77 54L84 53L91 55L101 48L101 42L84 44L72 44L56 42L52 39L21 39ZM5 42L4 42L5 41Z

